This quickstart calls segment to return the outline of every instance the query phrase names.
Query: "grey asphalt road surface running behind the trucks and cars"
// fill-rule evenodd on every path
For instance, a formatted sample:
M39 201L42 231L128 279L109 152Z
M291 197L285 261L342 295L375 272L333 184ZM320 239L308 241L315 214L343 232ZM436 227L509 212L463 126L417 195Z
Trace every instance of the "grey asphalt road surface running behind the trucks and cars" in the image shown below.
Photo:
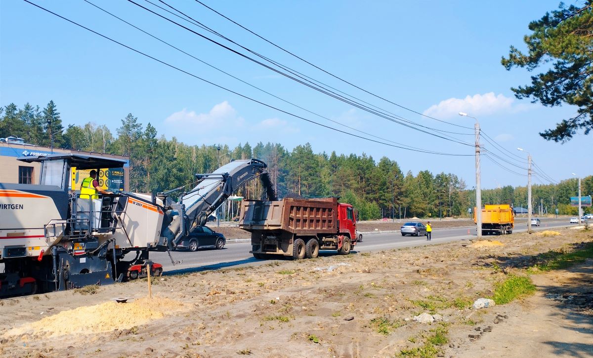
M534 231L548 228L569 226L566 218L541 219L541 226L533 226ZM523 220L515 223L514 232L527 231L527 223ZM432 240L426 241L425 236L401 236L400 232L388 234L366 234L363 242L353 248L353 252L381 251L393 248L413 247L419 245L441 244L442 242L457 241L476 237L475 227L434 229ZM485 236L495 238L496 236ZM177 274L195 271L212 270L224 267L238 267L245 265L264 264L267 260L256 260L249 253L250 242L228 243L222 250L201 249L196 252L173 251L174 260L181 261L173 266L167 252L151 252L151 260L162 264L165 274ZM320 256L335 255L336 251L320 251Z

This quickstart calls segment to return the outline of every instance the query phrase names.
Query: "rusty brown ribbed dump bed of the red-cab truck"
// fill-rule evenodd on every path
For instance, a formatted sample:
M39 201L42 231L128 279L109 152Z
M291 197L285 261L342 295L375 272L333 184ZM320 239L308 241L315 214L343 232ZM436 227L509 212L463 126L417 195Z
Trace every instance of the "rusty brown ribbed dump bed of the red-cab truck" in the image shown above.
M337 199L244 200L239 228L281 230L297 235L337 232Z

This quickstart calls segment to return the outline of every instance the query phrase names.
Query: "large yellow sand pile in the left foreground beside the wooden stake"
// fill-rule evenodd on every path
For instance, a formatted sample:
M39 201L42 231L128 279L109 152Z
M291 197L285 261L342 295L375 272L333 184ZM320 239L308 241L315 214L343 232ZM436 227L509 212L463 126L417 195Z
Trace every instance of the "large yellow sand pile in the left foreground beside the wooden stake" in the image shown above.
M32 333L53 336L125 330L184 308L183 303L167 298L141 298L129 303L105 302L45 317L9 330L7 335Z

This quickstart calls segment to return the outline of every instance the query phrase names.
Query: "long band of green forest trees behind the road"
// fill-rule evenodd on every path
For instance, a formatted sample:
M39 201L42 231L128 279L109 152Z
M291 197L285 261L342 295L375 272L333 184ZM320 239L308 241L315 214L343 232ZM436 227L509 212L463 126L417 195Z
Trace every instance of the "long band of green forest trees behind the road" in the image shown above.
M258 158L268 165L272 183L280 198L288 194L302 197L339 196L352 203L360 219L468 217L475 203L475 192L453 173L423 170L404 174L397 161L383 156L375 161L364 153L315 153L309 143L289 150L280 143L224 143L186 145L176 138L159 136L151 123L127 114L115 133L105 125L62 124L53 101L47 106L14 103L0 107L0 138L18 136L39 146L109 153L130 157L130 191L157 193L184 185L191 186L195 173L216 170L231 159ZM471 180L473 181L473 180ZM593 194L593 175L582 178L582 195ZM569 197L578 193L576 178L558 184L532 186L535 212L543 207L549 213L575 215ZM240 195L262 196L259 183L240 188ZM504 186L482 190L483 204L514 204L527 207L527 187ZM590 208L586 208L589 210Z

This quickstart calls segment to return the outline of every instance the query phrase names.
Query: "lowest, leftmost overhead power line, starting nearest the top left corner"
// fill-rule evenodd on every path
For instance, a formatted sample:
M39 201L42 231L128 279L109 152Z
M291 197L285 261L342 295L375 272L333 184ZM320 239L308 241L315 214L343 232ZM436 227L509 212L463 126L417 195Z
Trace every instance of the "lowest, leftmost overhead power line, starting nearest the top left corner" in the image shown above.
M211 85L213 85L213 86L215 86L215 87L218 87L218 88L224 89L225 91L228 91L228 92L231 92L232 94L235 94L235 95L238 95L238 96L240 96L240 97L246 98L247 100L253 101L253 102L255 102L255 103L262 104L263 106L266 106L266 107L272 108L272 109L274 109L274 110L280 111L280 112L282 112L282 113L288 114L289 116L296 117L296 118L298 118L298 119L302 119L302 120L305 120L305 121L307 121L307 122L310 122L310 123L317 124L318 126L325 127L325 128L327 128L327 129L332 129L332 130L335 130L336 132L344 133L344 134L346 134L346 135L350 135L350 136L353 136L353 137L356 137L356 138L361 138L361 139L369 140L369 141L371 141L371 142L380 143L380 144L384 144L384 145L388 145L388 146L392 146L392 147L396 147L396 148L400 148L400 149L406 149L406 150L409 150L409 151L414 151L414 152L424 152L424 153L428 153L428 154L436 154L436 155L449 155L449 156L473 156L473 155L471 155L471 154L447 154L447 153L438 153L438 152L432 152L432 151L422 151L422 150L417 150L417 149L410 149L410 148L406 148L406 147L402 147L402 146L397 146L397 145L391 145L391 144L388 144L388 143L380 142L380 141L378 141L378 140L374 140L374 139L365 138L365 137L362 137L362 136L354 135L354 134L352 134L352 133L347 133L347 132L344 132L343 130L339 130L339 129L336 129L336 128L333 128L333 127L330 127L330 126L326 126L325 124L321 124L321 123L314 122L313 120L309 120L309 119L306 119L306 118L304 118L304 117L297 116L296 114L289 113L289 112L287 112L287 111L281 110L280 108L276 108L276 107L270 106L269 104L266 104L266 103L263 103L263 102L261 102L261 101L255 100L254 98L247 97L246 95L243 95L243 94L240 94L240 93L238 93L238 92L232 91L231 89L228 89L228 88L222 87L221 85L218 85L218 84L215 84L215 83L213 83L213 82L211 82L211 81L208 81L208 80L206 80L206 79L203 79L203 78L201 78L201 77L199 77L199 76L197 76L197 75L194 75L193 73L190 73L190 72L184 71L183 69L180 69L180 68L177 68L176 66L170 65L170 64L169 64L169 63L167 63L167 62L164 62L164 61L162 61L162 60L159 60L159 59L157 59L157 58L155 58L155 57L152 57L152 56L150 56L150 55L147 55L146 53L144 53L144 52L141 52L141 51L139 51L139 50L136 50L136 49L134 49L133 47L130 47L130 46L127 46L126 44L120 43L120 42L119 42L119 41L117 41L117 40L111 39L110 37L108 37L108 36L105 36L105 35L103 35L103 34L101 34L101 33L98 33L97 31L91 30L90 28L88 28L88 27L85 27L84 25L78 24L78 23L76 23L75 21L72 21L72 20L70 20L70 19L68 19L68 18L66 18L66 17L63 17L62 15L56 14L56 13L55 13L55 12L53 12L53 11L50 11L49 9L46 9L46 8L44 8L44 7L41 7L40 5L34 4L33 2L30 2L30 1L28 1L28 0L23 0L23 1L24 1L24 2L27 2L28 4L31 4L31 5L33 5L34 7L40 8L40 9L42 9L43 11L49 12L49 13L50 13L50 14L52 14L52 15L55 15L55 16L57 16L57 17L59 17L59 18L62 18L62 20L66 20L66 21L68 21L68 22L69 22L69 23L71 23L71 24L74 24L74 25L76 25L76 26L78 26L78 27L84 28L85 30L87 30L87 31L90 31L90 32L92 32L92 33L94 33L94 34L96 34L96 35L98 35L98 36L101 36L101 37L103 37L103 38L104 38L104 39L106 39L106 40L112 41L112 42L114 42L114 43L116 43L116 44L119 44L120 46L126 47L126 49L132 50L133 52L136 52L136 53L138 53L139 55L142 55L142 56L148 57L149 59L155 60L155 61L157 61L157 62L161 63L162 65L165 65L165 66L168 66L168 67L170 67L170 68L176 69L177 71L180 71L180 72L186 73L186 75L190 75L190 76L192 76L192 77L194 77L194 78L196 78L196 79L200 79L200 81L203 81L203 82L206 82L206 83L208 83L208 84L211 84Z

